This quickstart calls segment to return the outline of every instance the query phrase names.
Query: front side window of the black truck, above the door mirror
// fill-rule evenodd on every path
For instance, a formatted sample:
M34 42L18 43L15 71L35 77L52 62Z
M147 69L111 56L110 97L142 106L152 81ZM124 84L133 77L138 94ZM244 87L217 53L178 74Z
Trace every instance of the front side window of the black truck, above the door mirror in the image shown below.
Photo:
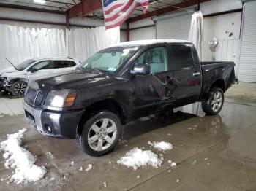
M135 66L148 64L151 66L151 73L168 70L167 50L165 47L156 47L143 52L135 61Z

